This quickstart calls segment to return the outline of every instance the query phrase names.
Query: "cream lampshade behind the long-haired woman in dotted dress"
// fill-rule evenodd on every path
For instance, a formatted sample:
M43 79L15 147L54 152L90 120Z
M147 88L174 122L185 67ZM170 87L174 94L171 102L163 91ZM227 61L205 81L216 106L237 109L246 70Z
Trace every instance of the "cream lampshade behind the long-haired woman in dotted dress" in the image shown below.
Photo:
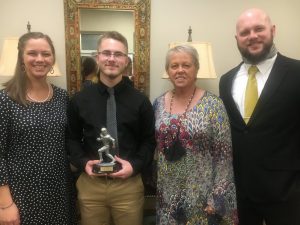
M17 37L6 38L3 42L3 48L0 58L0 76L13 76L15 73L18 59L18 41ZM57 62L53 65L53 73L47 76L61 76Z

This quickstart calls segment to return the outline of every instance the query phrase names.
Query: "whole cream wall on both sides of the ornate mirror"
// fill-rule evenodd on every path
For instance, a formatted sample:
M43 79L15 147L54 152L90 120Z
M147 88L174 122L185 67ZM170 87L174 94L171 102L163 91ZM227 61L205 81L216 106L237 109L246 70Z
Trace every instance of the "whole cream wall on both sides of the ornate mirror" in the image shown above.
M160 77L164 72L168 43L186 41L187 30L193 29L194 41L210 41L218 77L240 62L234 39L235 23L239 14L249 7L266 10L277 26L275 43L278 50L300 59L300 2L298 0L152 0L151 1L151 62L150 98L171 88L169 81ZM0 51L7 36L26 32L27 21L32 31L42 31L52 38L57 60L65 73L63 0L0 0ZM66 77L51 78L66 88ZM0 77L3 82L3 77ZM203 88L218 94L216 80L199 80Z

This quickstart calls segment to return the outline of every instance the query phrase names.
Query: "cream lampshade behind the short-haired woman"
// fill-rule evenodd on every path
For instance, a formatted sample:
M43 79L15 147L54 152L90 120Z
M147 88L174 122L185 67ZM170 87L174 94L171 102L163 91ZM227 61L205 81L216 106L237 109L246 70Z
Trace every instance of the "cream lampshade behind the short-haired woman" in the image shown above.
M197 78L217 78L216 70L214 66L212 47L209 42L173 42L169 44L169 48L173 48L178 45L191 45L199 54L200 68L198 70ZM163 79L169 78L165 72Z

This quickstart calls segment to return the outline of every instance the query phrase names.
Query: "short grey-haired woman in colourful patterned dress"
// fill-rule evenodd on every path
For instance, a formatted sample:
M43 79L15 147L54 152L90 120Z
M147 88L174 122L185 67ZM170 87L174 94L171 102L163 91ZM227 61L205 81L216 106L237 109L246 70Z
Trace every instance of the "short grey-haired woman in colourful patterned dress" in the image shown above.
M157 224L236 224L229 121L222 101L196 85L197 51L170 49L174 89L154 101L158 143Z

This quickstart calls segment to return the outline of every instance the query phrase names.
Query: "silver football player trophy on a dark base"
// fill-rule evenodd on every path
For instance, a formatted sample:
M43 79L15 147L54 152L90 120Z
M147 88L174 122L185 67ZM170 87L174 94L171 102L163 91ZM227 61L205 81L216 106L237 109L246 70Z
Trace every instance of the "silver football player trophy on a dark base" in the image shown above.
M101 141L103 146L98 149L100 162L93 165L93 173L102 174L102 173L114 173L118 169L118 163L114 157L110 154L110 150L115 148L115 139L110 136L106 128L102 128L100 132L100 137L97 138L97 141ZM105 158L103 158L105 154ZM111 161L107 161L107 159Z

